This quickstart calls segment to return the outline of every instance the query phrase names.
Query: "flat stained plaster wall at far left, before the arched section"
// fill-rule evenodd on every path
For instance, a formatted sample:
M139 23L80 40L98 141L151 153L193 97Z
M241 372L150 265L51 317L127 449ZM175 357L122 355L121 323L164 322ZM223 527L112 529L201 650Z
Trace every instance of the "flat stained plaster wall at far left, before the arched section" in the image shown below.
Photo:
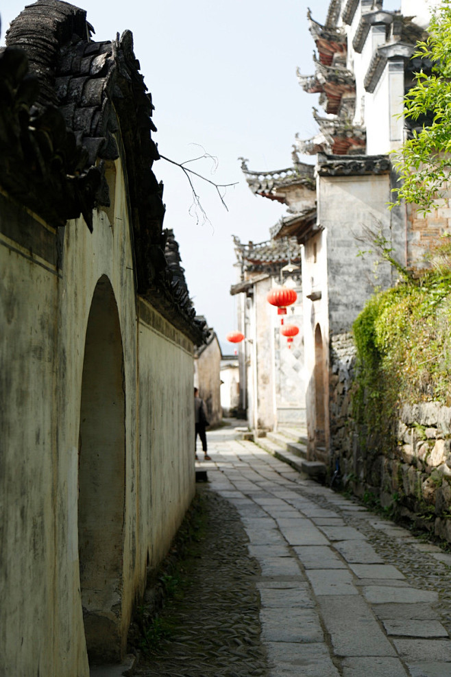
M58 495L51 487L58 278L54 266L26 257L29 251L1 237L0 674L18 677L55 674L59 632Z

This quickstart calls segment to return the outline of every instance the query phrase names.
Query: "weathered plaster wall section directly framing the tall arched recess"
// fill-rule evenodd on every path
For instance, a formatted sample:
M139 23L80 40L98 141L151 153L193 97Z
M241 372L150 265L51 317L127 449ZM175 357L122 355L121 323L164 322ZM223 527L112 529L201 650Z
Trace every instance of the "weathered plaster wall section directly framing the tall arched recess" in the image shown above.
M125 185L118 161L117 185L114 199L115 222L110 226L103 211L94 215L93 233L83 219L69 222L64 236L64 263L62 283L58 297L59 359L58 381L58 514L66 516L57 526L56 543L60 556L60 576L56 589L60 599L56 604L56 622L60 641L58 661L60 669L54 674L84 675L86 654L73 644L83 647L84 626L80 597L77 552L77 466L73 455L77 453L80 426L80 392L84 361L84 342L90 303L97 281L106 275L114 290L121 324L124 354L125 386L125 515L122 590L122 632L125 637L130 621L136 589L143 576L145 553L138 552L138 447L136 436L136 303L134 294L134 261L130 244ZM70 505L74 503L74 505ZM75 534L75 536L74 536ZM66 598L66 604L64 599ZM74 604L75 600L75 604ZM70 650L66 638L72 638ZM80 639L81 638L81 639ZM125 641L123 645L125 649ZM58 665L58 664L56 664ZM76 672L77 669L79 672ZM73 671L73 672L71 672Z

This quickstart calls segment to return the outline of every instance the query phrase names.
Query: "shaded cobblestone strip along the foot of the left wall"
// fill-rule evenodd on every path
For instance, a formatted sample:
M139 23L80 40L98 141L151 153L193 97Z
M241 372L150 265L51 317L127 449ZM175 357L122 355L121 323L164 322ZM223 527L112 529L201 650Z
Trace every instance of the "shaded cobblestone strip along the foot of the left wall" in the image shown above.
M160 614L173 624L171 639L154 658L143 659L141 677L248 677L267 675L260 642L260 568L249 557L236 508L199 485L205 532L189 554L189 585L182 599L169 599Z

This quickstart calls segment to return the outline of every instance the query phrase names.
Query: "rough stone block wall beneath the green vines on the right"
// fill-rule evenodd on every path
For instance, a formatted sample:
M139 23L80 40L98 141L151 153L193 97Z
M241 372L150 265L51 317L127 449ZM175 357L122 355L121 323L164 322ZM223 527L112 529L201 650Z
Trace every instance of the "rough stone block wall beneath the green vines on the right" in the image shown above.
M403 405L395 444L386 453L363 451L352 418L355 347L352 334L330 342L330 473L336 463L343 484L392 506L400 516L451 542L451 407L437 402ZM389 422L387 421L387 426ZM359 436L360 433L360 436ZM387 429L387 439L390 431Z

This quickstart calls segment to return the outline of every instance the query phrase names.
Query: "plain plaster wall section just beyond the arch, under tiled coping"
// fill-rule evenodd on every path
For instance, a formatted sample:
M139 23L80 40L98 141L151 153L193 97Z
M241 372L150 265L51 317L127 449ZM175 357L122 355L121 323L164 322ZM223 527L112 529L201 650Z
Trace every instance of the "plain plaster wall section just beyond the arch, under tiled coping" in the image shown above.
M156 567L194 495L195 433L193 346L162 318L152 324L140 313L141 538Z

